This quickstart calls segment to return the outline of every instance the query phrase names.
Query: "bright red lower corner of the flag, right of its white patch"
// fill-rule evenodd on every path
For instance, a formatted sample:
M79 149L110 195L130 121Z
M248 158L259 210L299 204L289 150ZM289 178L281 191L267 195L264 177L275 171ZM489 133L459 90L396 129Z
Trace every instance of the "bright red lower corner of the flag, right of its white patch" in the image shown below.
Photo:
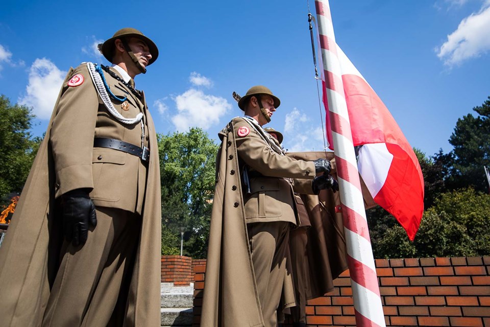
M386 144L386 148L393 160L374 201L398 220L413 241L424 212L424 186L408 154L395 144Z

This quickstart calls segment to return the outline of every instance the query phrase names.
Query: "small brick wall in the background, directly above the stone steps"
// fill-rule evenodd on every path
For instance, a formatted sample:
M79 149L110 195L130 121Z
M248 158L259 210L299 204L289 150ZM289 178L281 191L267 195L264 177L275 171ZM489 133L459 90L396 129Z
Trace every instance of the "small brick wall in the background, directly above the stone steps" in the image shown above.
M162 283L188 286L194 281L192 258L181 255L162 255Z

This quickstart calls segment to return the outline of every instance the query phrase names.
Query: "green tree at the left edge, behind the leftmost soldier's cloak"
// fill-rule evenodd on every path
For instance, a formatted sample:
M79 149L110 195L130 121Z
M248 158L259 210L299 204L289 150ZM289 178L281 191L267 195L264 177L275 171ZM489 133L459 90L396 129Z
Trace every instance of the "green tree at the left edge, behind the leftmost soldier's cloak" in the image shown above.
M29 107L12 105L0 96L0 205L10 202L8 195L22 191L31 170L41 143L30 132L34 117Z

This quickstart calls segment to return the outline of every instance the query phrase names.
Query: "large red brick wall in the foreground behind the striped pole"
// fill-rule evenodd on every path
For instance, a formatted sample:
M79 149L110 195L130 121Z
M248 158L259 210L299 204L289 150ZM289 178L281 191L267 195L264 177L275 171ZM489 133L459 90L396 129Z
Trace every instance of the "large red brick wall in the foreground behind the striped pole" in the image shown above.
M205 269L194 267L194 326L201 318ZM490 257L378 259L376 272L387 326L490 327ZM308 326L356 325L349 272L334 285L308 302Z

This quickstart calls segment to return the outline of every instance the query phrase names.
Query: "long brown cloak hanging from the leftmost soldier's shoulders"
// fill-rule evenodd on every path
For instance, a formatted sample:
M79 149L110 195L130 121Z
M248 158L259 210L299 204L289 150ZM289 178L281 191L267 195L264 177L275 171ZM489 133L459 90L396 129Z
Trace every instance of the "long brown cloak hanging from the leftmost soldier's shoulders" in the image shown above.
M68 72L63 85L72 76ZM86 76L88 78L88 76ZM90 80L85 81L91 83ZM94 92L95 89L94 89ZM60 102L60 95L55 108ZM146 106L145 106L145 110ZM155 126L146 113L150 162L146 180L140 242L128 301L135 303L126 321L135 326L160 326L161 196L158 144ZM20 196L5 241L0 248L0 321L2 326L40 325L50 282L56 275L61 226L54 220L55 171L49 142L50 124ZM75 127L76 128L76 127ZM95 227L96 228L96 227Z

